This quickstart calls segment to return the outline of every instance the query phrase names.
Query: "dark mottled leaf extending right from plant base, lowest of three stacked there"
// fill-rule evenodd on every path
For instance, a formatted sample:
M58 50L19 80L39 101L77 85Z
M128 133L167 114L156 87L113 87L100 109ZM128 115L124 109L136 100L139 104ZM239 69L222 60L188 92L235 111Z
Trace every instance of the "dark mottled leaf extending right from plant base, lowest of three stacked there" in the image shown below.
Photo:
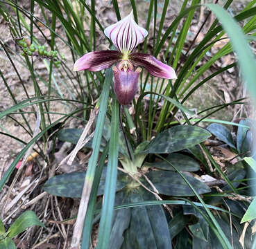
M194 196L194 192L177 172L151 171L148 172L146 176L148 176L149 180L152 181L160 194L166 194L169 196ZM205 185L205 183L202 183L191 176L187 176L185 174L184 176L198 194L211 192L210 187Z

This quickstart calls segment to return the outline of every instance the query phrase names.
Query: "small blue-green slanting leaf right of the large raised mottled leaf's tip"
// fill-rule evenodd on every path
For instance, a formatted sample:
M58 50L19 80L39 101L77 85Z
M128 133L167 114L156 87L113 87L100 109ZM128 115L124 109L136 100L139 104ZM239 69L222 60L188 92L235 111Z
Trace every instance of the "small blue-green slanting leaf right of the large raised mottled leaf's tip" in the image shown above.
M227 127L221 124L210 124L207 130L210 131L210 133L216 136L216 138L218 138L219 140L236 149L230 130Z

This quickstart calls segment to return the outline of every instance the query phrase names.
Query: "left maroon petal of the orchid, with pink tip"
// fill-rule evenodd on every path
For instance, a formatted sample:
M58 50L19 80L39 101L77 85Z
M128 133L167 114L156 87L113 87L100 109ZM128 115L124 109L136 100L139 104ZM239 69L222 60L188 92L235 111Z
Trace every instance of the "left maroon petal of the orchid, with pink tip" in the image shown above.
M101 71L119 62L120 59L121 53L119 53L119 51L101 50L89 52L75 62L74 71Z

